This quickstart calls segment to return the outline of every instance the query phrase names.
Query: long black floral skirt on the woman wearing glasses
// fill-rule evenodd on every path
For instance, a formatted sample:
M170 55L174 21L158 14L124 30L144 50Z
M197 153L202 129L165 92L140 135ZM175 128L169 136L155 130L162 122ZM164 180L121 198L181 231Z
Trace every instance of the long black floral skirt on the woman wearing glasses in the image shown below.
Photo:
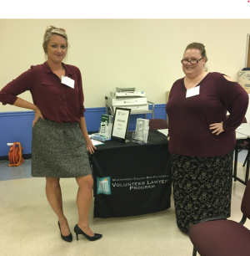
M230 217L233 151L212 157L171 154L171 164L178 228L188 233L203 218Z

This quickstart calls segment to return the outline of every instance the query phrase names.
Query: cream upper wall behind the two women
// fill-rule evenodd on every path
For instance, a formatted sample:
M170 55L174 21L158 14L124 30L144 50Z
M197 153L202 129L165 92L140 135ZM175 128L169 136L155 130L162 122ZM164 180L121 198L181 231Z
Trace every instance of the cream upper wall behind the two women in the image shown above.
M250 19L0 19L0 90L12 79L42 64L47 25L65 28L68 64L82 72L85 107L104 106L116 86L145 90L148 100L166 103L166 91L183 77L186 46L205 44L208 71L237 79L245 64ZM32 101L29 92L21 95ZM0 105L0 111L23 110Z

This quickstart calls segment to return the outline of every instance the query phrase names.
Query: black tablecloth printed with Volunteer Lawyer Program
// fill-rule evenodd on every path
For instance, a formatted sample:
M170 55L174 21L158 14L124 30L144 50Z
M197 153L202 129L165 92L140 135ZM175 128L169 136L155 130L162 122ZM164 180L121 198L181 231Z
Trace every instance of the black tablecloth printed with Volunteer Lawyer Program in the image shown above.
M128 140L132 133L128 132ZM126 217L170 207L172 188L167 136L149 131L148 143L106 141L91 157L94 217Z

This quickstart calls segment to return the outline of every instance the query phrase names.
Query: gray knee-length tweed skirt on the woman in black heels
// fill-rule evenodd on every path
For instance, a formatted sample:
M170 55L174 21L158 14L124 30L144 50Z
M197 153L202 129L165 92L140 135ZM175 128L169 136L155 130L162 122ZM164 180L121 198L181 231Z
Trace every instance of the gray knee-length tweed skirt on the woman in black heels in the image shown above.
M79 125L39 118L32 129L32 177L90 174L86 143Z

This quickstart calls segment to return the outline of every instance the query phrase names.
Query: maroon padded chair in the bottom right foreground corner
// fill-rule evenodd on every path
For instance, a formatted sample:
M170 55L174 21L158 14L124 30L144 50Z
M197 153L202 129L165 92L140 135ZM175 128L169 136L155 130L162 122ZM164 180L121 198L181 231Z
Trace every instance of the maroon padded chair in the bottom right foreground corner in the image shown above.
M250 219L250 181L242 201L243 218L240 223L223 217L204 218L189 229L193 256L249 256L250 230L243 224Z

